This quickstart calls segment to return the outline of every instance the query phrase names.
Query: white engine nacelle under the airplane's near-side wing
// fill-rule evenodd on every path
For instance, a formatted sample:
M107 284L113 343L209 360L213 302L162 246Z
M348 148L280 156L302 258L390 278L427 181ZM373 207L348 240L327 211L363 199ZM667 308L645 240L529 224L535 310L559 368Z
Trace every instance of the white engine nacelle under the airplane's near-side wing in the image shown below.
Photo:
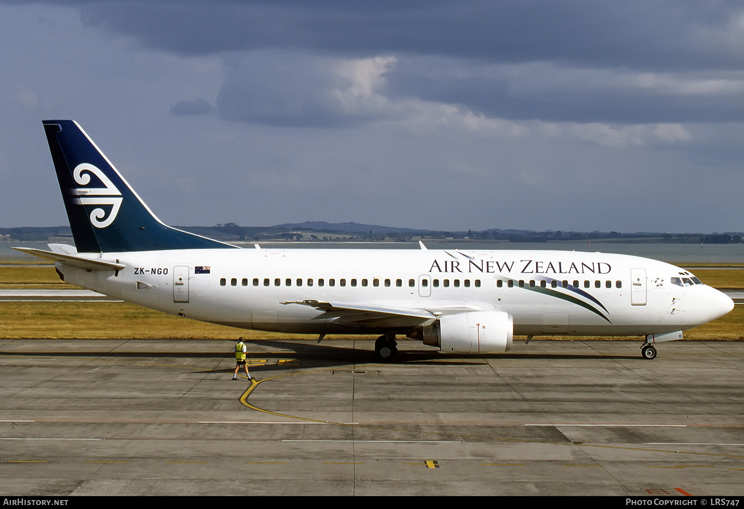
M425 345L451 353L504 353L511 350L514 320L504 311L446 315L423 330Z

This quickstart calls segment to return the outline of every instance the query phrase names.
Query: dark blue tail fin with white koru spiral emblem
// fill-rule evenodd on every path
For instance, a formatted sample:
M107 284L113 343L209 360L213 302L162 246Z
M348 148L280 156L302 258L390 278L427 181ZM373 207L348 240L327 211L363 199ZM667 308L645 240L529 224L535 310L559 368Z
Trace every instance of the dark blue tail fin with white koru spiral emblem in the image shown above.
M164 225L77 122L43 124L77 252L236 247Z

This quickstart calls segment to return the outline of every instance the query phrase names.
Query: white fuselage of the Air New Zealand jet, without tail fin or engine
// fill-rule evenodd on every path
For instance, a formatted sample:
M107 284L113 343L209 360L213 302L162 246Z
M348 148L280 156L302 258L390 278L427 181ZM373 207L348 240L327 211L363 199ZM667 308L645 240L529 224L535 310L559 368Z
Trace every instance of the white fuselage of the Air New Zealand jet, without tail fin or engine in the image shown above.
M188 249L83 255L122 263L65 281L173 315L290 333L406 333L395 317L338 321L301 301L504 311L514 334L644 336L728 313L731 299L668 263L621 254L394 249ZM678 283L673 284L677 278ZM696 281L696 280L695 280ZM282 304L284 303L284 304Z

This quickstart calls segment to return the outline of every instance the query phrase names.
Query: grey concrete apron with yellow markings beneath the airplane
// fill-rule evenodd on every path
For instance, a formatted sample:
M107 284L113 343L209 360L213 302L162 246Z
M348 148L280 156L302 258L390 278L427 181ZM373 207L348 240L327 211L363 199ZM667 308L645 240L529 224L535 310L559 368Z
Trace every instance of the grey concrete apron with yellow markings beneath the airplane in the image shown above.
M0 493L744 493L744 342L399 345L0 341Z

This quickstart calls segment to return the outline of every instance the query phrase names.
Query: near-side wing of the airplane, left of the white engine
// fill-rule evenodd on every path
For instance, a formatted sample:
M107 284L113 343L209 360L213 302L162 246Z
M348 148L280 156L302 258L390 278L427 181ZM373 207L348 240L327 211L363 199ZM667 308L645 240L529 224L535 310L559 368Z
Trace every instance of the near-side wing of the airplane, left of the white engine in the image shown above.
M440 313L416 307L397 307L385 304L359 304L356 302L287 301L281 304L300 304L323 311L319 320L330 320L350 327L416 327L432 321Z

